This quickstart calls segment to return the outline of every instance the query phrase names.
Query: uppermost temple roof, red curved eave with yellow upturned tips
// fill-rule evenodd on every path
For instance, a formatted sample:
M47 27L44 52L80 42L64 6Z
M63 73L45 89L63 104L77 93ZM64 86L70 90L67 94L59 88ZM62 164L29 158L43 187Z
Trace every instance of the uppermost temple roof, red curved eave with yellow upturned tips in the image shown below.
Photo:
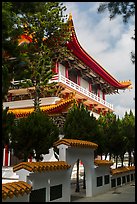
M80 45L74 24L72 15L69 16L69 30L71 32L71 40L67 42L67 48L80 59L85 65L87 65L94 73L98 74L102 79L108 82L110 85L117 89L131 88L131 81L117 81L112 75L110 75L97 61L95 61Z

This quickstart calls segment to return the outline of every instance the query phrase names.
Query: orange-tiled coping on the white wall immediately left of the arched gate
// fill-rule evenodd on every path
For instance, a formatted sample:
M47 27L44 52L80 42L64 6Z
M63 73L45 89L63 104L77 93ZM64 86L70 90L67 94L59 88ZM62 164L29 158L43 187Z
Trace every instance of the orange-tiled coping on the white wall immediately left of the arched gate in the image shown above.
M21 162L13 167L13 171L26 169L30 172L55 171L65 170L70 168L70 165L65 161L55 162Z

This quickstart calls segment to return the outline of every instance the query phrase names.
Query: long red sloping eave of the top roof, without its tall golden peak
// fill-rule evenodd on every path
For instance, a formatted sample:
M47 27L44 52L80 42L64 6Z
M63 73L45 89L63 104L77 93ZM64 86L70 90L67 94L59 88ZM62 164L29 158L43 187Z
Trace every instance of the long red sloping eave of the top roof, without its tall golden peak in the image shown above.
M85 50L79 44L77 37L74 32L72 32L72 40L68 42L67 48L78 57L83 63L85 63L90 69L102 77L106 82L108 82L113 87L118 89L127 88L129 85L122 85L116 79L114 79L109 73L107 73L91 56L89 56Z

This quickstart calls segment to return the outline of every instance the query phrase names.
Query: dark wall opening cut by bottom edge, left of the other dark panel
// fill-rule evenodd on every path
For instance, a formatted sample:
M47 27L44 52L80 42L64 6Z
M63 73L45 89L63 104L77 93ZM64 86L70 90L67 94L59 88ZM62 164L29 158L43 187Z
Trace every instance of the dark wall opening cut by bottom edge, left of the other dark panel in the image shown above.
M46 202L46 188L32 190L30 193L30 202Z

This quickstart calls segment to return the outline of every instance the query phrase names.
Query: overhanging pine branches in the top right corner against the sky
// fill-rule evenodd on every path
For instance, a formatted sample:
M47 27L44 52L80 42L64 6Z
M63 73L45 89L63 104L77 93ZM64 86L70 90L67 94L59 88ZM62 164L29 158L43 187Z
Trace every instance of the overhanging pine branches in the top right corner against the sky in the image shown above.
M98 7L98 13L108 10L110 20L116 16L122 16L123 22L128 23L129 19L135 15L135 2L103 2ZM134 37L132 39L135 40ZM135 53L131 52L131 61L135 63Z

